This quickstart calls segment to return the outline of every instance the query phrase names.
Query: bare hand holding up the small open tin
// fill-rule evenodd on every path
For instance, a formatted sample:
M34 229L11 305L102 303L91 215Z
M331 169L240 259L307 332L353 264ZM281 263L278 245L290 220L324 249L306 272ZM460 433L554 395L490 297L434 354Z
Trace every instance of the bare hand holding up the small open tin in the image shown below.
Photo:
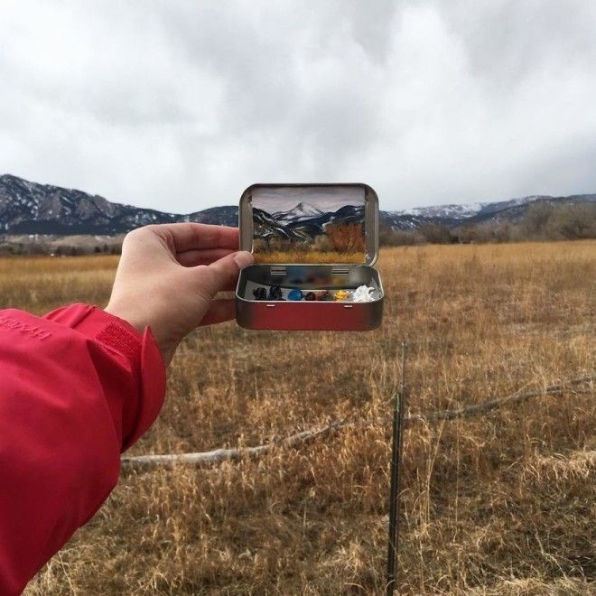
M150 327L167 366L185 335L235 316L236 287L253 256L237 252L237 228L196 223L138 228L126 235L106 312L137 331Z

